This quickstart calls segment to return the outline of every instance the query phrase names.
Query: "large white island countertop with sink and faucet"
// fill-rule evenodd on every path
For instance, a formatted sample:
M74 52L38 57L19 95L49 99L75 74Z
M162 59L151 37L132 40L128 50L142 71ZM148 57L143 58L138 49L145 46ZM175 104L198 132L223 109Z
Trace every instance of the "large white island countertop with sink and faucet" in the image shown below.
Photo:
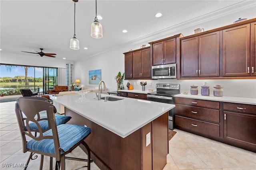
M123 138L175 107L121 96L102 94L101 97L104 96L123 100L104 102L95 99L95 93L88 93L83 99L79 95L67 95L52 97L52 100Z

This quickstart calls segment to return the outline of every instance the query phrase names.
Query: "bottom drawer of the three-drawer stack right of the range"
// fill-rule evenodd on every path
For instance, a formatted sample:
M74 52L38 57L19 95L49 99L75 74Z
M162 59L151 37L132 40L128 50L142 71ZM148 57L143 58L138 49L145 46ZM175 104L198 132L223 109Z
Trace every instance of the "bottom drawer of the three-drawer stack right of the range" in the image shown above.
M220 125L175 115L175 126L213 137L220 137Z

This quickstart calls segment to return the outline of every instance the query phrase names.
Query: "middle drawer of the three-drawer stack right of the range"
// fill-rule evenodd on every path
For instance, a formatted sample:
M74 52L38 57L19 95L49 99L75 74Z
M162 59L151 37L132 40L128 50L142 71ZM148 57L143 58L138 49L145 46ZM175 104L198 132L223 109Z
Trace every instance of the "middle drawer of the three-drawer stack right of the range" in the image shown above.
M206 109L201 107L176 104L175 114L220 123L220 111L215 109Z

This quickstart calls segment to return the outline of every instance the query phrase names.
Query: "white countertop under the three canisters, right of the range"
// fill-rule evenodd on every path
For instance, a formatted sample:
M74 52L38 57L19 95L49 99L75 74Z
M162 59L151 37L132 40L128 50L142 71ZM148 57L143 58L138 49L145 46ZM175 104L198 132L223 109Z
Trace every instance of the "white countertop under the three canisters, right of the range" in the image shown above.
M256 98L238 98L238 97L230 97L230 96L202 96L200 94L177 94L174 97L182 97L182 98L193 98L193 99L201 99L201 100L213 100L218 102L231 102L231 103L240 103L240 104L252 104L256 105Z

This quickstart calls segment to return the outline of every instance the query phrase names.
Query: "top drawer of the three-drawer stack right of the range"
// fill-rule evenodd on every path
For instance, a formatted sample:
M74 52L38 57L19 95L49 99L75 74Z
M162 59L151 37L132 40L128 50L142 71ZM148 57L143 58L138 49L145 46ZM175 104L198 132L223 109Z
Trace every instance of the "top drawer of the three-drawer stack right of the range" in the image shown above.
M200 107L208 107L213 109L220 109L220 102L214 102L214 101L208 101L208 100L175 97L174 102L175 104L183 104L188 106L200 106Z

